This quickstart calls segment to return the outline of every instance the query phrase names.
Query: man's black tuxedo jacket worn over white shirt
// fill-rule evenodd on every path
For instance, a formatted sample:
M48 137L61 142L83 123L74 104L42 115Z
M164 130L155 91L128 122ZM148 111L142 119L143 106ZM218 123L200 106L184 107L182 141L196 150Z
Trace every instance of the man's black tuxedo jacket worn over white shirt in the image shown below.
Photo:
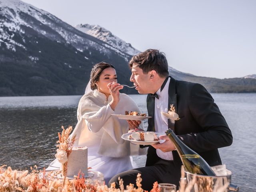
M180 120L168 123L175 134L192 150L196 151L210 166L222 164L218 148L232 144L232 133L214 99L200 84L175 80L170 77L168 106L174 104ZM154 128L155 98L147 97L148 131ZM174 164L182 162L176 151L172 152ZM156 149L148 148L146 166L154 165L160 158Z

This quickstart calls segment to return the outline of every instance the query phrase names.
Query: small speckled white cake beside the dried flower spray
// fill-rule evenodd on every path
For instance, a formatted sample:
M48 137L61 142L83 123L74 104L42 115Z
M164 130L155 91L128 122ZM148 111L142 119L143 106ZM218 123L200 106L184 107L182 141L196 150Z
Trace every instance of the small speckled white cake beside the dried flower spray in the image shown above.
M83 173L88 176L88 148L87 147L73 147L72 152L68 156L67 177L74 177Z

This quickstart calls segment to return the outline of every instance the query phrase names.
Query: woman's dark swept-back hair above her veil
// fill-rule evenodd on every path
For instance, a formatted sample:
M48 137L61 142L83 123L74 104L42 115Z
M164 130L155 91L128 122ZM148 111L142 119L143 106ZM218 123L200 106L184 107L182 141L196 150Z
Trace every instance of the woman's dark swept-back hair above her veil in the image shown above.
M114 66L112 64L108 64L106 62L100 62L100 63L97 63L93 66L92 71L91 71L91 75L90 75L91 89L92 90L97 89L96 82L100 79L100 74L102 73L102 71L104 69L109 68L109 67L114 68Z

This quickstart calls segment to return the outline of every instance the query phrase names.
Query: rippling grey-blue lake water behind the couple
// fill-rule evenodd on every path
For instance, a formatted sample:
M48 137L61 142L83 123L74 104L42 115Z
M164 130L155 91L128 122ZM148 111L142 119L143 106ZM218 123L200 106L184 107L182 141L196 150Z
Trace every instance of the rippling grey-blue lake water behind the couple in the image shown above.
M146 112L146 95L130 95ZM256 94L212 94L233 134L233 144L220 148L223 164L233 172L240 191L256 189ZM14 169L47 166L56 152L61 125L76 125L81 96L0 97L0 165ZM145 121L147 125L147 122ZM144 166L146 156L136 156Z

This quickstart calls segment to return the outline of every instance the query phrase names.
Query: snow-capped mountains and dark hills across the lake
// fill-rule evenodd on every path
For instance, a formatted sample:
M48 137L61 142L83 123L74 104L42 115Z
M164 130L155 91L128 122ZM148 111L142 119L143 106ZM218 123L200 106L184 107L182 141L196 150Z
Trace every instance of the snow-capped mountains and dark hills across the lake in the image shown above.
M92 66L101 61L115 66L118 82L132 85L128 61L138 52L100 26L74 28L20 0L0 0L0 96L81 95ZM221 80L171 67L169 72L210 92L256 92L251 77ZM123 92L138 93L129 88Z

